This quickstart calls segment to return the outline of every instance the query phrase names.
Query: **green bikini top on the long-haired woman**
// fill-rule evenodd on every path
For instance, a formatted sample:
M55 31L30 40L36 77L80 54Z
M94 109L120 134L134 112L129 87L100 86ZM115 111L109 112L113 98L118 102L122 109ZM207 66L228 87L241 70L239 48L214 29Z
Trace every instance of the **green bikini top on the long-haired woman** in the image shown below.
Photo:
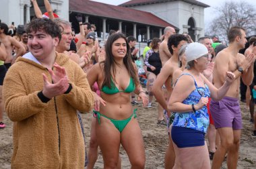
M114 95L116 93L124 92L124 93L131 93L135 90L135 84L133 81L133 78L130 77L130 83L128 87L125 89L125 91L119 91L119 89L116 87L115 83L113 82L111 78L111 88L109 89L107 86L102 87L102 92L108 94L108 95Z

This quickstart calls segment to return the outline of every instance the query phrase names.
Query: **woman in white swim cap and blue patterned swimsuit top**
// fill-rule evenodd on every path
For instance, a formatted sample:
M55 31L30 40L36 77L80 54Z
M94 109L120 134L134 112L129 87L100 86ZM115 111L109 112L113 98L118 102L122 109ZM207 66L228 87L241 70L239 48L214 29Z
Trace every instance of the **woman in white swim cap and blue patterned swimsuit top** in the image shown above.
M207 65L207 48L197 42L185 50L187 68L174 84L168 109L175 114L172 125L172 142L176 161L173 168L210 169L210 158L204 136L209 125L208 97L218 101L224 97L234 80L226 73L226 82L216 89L201 72ZM179 163L178 163L179 162Z

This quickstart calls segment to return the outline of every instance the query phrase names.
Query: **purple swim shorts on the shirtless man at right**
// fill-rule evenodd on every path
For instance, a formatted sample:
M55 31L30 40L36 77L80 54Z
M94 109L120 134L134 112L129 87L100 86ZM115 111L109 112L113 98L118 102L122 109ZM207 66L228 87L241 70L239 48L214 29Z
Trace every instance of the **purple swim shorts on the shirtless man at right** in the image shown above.
M234 130L243 128L238 99L232 97L223 97L220 101L212 99L210 111L216 129L222 127L232 127Z

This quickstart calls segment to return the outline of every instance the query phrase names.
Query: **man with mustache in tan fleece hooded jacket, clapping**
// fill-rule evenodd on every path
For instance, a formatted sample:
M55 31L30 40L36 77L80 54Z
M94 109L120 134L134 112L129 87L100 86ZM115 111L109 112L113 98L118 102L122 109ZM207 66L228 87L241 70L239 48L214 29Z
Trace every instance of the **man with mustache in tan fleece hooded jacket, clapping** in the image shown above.
M34 19L26 28L30 52L17 59L3 82L5 111L13 121L11 168L84 168L84 139L76 110L94 97L86 74L55 48L61 28Z

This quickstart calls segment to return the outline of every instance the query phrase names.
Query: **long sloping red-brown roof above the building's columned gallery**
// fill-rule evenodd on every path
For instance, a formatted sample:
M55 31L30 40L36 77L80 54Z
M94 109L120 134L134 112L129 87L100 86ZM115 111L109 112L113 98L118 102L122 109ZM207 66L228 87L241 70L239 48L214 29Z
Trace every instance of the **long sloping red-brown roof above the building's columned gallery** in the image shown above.
M146 11L139 11L136 9L129 9L127 7L119 7L115 5L108 5L89 0L72 0L69 1L69 11L77 13L86 13L110 19L118 19L120 21L129 21L133 23L143 23L146 25L154 25L157 27L172 26L175 30L178 27L164 21L160 17L153 15Z

